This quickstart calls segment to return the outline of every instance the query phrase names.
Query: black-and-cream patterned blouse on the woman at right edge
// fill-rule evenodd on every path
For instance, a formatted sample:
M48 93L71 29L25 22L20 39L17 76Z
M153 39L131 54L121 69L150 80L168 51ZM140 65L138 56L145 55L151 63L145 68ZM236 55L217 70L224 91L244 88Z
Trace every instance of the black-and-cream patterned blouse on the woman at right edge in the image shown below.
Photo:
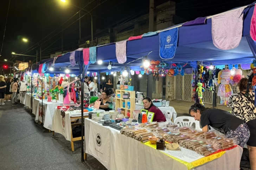
M254 93L250 92L251 100L254 101ZM232 94L229 98L228 107L232 108L232 114L237 118L248 122L249 120L256 119L256 109L254 104L241 93Z

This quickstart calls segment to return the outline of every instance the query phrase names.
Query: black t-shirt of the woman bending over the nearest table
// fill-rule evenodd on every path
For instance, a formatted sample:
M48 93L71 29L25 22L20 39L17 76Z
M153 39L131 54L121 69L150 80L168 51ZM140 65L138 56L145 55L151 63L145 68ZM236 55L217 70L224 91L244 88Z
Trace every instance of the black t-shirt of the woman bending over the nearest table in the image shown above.
M210 125L216 129L222 129L228 132L229 129L236 130L236 128L243 124L244 120L233 116L229 112L221 109L209 109L201 114L200 124L202 127Z

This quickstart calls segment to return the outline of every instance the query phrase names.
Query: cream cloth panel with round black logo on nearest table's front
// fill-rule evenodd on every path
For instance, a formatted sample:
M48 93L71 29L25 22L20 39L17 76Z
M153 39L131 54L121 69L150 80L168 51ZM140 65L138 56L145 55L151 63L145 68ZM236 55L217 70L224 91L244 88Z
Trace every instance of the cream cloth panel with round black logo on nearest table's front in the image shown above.
M110 130L103 126L90 122L89 154L97 160L109 163ZM100 162L101 162L100 161Z

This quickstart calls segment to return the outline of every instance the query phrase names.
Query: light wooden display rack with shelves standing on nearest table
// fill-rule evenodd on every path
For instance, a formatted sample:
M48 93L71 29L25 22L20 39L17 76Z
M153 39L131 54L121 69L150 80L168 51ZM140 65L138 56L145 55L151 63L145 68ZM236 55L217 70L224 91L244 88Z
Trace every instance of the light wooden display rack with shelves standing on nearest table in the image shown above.
M117 93L120 93L120 98L117 98ZM130 99L123 99L124 93L130 93ZM130 108L127 106L127 101L130 101ZM123 102L125 102L125 108L123 107ZM127 112L130 112L130 118L133 118L133 111L135 110L135 91L116 90L116 111L117 108L124 109L125 116L127 116Z

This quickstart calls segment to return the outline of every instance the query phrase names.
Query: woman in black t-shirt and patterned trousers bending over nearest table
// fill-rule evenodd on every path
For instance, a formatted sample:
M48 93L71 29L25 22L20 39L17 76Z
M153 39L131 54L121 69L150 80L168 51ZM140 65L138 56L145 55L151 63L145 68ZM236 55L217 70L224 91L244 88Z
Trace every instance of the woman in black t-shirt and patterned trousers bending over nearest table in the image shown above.
M215 128L228 138L236 138L238 145L244 147L250 137L250 131L244 120L233 116L221 109L208 109L195 103L189 113L195 120L200 121L204 132L208 131L208 125Z

